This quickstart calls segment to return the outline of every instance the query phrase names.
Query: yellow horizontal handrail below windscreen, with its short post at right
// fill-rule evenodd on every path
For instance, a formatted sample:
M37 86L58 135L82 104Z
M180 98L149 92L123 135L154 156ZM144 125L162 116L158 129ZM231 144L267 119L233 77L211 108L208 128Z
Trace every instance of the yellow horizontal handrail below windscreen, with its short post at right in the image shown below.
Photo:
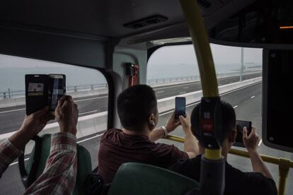
M180 137L180 136L166 136L165 139L171 140L171 141L176 141L179 143L184 143L185 138ZM244 150L238 150L235 148L231 148L229 150L229 153L233 155L239 155L245 158L249 158L248 152ZM285 187L286 187L286 182L287 178L289 175L289 169L293 168L293 161L286 159L286 158L275 158L270 155L260 155L260 158L263 159L264 162L269 162L275 165L279 165L279 184L278 184L278 195L283 195L285 194Z

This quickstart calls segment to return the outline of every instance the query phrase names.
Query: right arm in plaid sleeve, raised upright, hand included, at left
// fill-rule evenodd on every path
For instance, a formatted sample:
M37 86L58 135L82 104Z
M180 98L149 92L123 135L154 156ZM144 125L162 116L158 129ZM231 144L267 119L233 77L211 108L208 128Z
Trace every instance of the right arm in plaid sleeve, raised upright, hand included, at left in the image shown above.
M42 175L25 194L71 194L76 182L77 105L71 97L59 100L55 110L60 133L51 136L50 155Z

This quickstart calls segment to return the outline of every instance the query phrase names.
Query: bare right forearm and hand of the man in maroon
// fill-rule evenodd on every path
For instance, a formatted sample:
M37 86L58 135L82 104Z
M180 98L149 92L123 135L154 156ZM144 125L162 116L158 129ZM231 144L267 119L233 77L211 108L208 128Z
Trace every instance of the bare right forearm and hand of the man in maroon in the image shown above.
M185 134L184 151L188 153L189 158L195 158L195 156L200 154L200 146L197 138L195 138L191 131L190 117L186 113L186 117L179 116L179 119Z

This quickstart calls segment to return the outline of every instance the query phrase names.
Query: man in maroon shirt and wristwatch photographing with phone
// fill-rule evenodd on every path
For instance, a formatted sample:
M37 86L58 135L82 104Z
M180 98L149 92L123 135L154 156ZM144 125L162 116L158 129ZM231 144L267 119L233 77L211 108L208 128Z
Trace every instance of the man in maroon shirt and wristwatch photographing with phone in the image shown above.
M125 162L143 162L166 168L173 160L193 158L199 153L188 116L176 120L173 113L166 126L154 130L159 112L154 90L148 85L134 85L120 93L117 111L122 130L109 129L100 141L98 174L103 177L104 184L112 182L115 172ZM154 143L180 124L185 133L184 152L173 145Z

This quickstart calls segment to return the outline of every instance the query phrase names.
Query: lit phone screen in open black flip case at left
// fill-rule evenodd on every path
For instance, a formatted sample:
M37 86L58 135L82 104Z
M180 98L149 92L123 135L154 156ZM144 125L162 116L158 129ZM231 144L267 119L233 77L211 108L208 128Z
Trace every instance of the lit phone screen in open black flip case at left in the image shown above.
M65 93L65 76L62 74L50 74L48 81L48 105L51 112L54 112L58 101Z

